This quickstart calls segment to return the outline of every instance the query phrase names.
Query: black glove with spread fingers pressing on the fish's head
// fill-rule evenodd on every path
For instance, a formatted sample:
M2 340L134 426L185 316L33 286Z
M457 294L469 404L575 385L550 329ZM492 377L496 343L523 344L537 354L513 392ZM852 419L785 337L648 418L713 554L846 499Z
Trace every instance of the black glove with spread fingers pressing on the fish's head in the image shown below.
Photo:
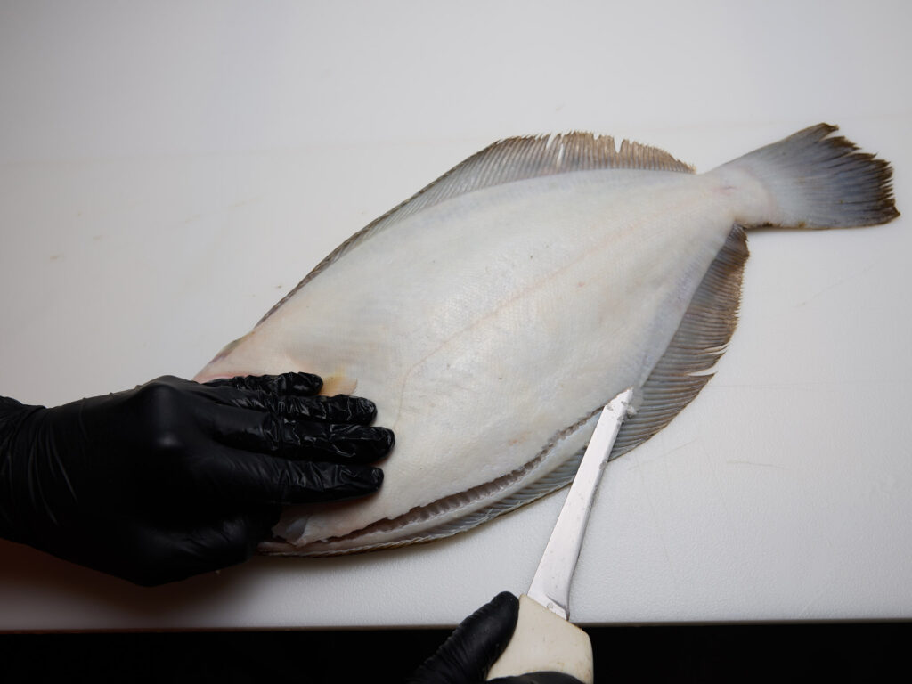
M56 409L0 399L0 536L158 585L240 563L283 503L375 492L393 433L288 373L163 377Z

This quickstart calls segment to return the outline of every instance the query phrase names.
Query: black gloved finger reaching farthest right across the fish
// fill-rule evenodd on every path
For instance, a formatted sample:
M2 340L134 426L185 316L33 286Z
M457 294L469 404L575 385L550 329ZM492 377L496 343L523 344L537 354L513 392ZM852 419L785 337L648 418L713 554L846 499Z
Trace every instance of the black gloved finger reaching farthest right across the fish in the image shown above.
M313 422L233 407L210 412L211 436L224 444L288 459L377 461L396 437L381 427Z

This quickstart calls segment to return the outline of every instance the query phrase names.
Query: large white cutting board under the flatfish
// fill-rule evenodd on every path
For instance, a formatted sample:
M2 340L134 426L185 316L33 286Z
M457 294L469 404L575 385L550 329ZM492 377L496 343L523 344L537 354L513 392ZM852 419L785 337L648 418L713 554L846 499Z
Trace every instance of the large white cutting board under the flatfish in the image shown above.
M827 120L894 163L912 211L907 6L3 5L0 393L192 376L350 233L513 134L597 130L707 170ZM907 219L750 247L716 378L606 472L583 624L912 617ZM562 499L155 589L2 543L0 629L454 625L528 586Z

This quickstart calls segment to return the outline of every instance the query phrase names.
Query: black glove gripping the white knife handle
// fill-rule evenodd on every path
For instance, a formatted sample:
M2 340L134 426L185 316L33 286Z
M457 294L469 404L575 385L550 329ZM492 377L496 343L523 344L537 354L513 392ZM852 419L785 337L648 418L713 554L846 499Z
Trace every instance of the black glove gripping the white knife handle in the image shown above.
M409 684L481 684L513 637L519 600L504 591L462 620L459 627L428 658ZM580 684L561 672L529 672L492 679L497 684Z

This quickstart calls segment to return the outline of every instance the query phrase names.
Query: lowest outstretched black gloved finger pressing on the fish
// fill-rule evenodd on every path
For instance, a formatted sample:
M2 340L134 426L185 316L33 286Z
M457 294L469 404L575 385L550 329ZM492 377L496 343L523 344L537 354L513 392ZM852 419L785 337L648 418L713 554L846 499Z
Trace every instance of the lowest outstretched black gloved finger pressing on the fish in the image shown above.
M192 496L248 503L316 503L376 492L383 471L358 464L289 461L247 451L224 449L194 467Z

